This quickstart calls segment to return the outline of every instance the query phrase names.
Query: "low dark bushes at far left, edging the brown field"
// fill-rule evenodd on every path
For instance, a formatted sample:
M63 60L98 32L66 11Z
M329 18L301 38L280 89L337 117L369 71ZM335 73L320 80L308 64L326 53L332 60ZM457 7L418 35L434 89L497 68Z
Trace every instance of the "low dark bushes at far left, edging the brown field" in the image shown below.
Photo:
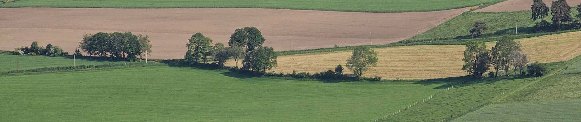
M42 56L67 56L69 53L63 51L59 46L52 46L52 44L46 45L46 47L38 46L38 42L34 41L30 47L19 47L16 48L14 54L28 54L31 56L42 55Z

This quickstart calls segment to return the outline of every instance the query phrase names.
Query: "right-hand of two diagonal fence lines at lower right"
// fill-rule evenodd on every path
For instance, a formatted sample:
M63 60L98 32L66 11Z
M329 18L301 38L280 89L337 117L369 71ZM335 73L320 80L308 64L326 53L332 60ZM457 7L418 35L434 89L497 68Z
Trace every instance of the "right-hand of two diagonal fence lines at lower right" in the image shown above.
M534 80L536 80L536 79L539 79L539 77L535 77L535 78L533 78L533 79L527 80L526 82L524 82L524 83L522 83L522 84L520 84L520 85L518 85L518 86L515 86L514 88L511 88L511 90L508 90L508 91L514 91L514 90L517 90L519 87L525 86L527 83L529 83L529 82L532 82L532 81L534 81ZM474 106L474 107L472 107L472 108L470 108L470 109L468 109L468 110L464 110L464 111L462 111L462 112L460 112L460 113L453 114L453 115L451 115L450 117L444 118L444 119L442 120L442 122L444 122L444 121L451 121L451 120L457 119L458 117L464 116L465 114L468 114L468 113L470 113L470 112L474 112L475 110L478 110L478 109L480 109L480 108L482 108L482 107L485 107L485 106L487 106L487 105L490 105L490 104L494 103L495 101L499 101L499 100L500 100L500 98L502 97L502 95L504 95L504 94L506 94L506 93L507 93L507 91L504 91L503 93L500 93L500 94L498 94L497 96L494 96L494 97L490 98L490 99L489 99L488 101L486 101L486 102L480 103L480 104L478 104L478 105L476 105L476 106Z

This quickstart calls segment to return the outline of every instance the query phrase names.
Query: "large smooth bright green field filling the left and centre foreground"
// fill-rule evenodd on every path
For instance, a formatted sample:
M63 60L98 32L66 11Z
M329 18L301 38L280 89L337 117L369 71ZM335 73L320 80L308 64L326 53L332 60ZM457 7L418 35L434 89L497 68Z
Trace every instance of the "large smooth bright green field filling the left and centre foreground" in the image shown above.
M167 66L2 76L0 120L370 121L446 84L235 77Z

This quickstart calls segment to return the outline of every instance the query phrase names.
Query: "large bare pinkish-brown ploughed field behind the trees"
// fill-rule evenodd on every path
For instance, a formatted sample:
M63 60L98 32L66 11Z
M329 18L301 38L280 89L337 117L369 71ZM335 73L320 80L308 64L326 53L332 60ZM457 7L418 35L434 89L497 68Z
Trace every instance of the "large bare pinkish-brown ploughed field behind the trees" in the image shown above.
M150 58L184 56L191 35L226 43L236 28L257 27L275 50L397 42L458 16L467 8L437 12L358 13L284 9L2 8L0 50L58 45L73 52L84 34L131 31L149 35ZM370 33L371 38L370 40ZM291 43L292 40L292 43Z

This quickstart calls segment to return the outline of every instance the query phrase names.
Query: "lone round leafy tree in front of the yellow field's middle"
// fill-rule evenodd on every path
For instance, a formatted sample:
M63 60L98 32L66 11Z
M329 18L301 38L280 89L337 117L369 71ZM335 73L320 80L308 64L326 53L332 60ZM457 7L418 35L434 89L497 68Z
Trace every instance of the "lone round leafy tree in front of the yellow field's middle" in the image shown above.
M347 59L347 68L351 69L355 76L361 77L371 67L377 66L377 52L368 47L359 46L353 50L353 56Z

